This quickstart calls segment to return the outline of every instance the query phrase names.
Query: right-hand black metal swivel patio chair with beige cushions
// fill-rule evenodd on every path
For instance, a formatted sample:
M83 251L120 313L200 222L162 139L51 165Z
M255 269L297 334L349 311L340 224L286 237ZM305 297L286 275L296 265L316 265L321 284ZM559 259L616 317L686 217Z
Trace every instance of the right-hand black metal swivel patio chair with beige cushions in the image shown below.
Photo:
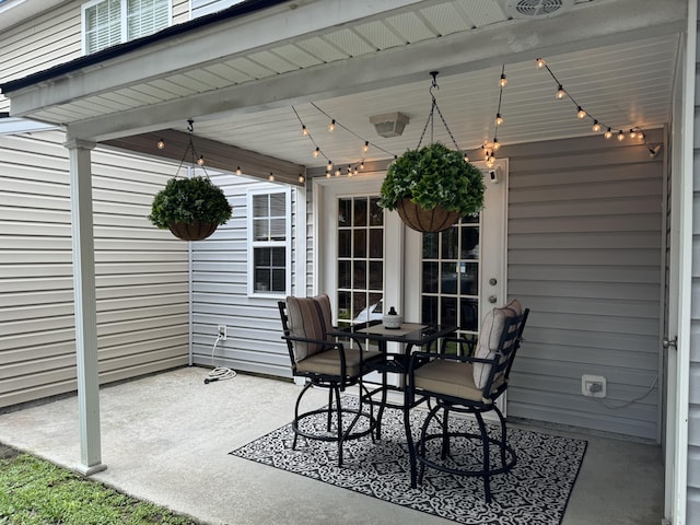
M495 401L508 388L513 359L520 347L529 310L523 311L517 300L501 308L493 308L483 318L479 340L472 355L446 353L448 347L468 346L472 342L460 338L443 339L440 353L416 352L409 363L408 396L428 396L428 417L421 425L420 436L409 451L413 456L411 478L422 482L425 467L457 476L480 477L487 503L491 502L491 477L508 472L517 459L508 444L505 419ZM457 352L462 353L462 352ZM471 353L471 352L469 352ZM434 405L432 404L434 401ZM478 432L451 428L451 412L471 415ZM500 423L500 435L487 428L483 413L494 412ZM436 424L435 424L436 423ZM480 448L480 465L460 462L451 455L451 442L469 440L475 451ZM438 440L439 447L430 447ZM500 460L492 465L491 445L498 446Z

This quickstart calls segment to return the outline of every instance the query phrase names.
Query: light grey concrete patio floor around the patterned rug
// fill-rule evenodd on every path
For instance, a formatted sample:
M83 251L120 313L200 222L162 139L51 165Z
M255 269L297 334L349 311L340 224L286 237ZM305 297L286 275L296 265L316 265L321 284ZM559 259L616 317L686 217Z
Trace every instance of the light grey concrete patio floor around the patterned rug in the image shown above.
M299 386L238 374L203 384L186 368L101 390L102 451L94 479L211 524L453 523L229 455L291 420ZM320 406L324 392L312 392ZM599 435L588 441L562 525L658 525L661 448ZM0 415L0 443L69 468L80 460L74 396Z

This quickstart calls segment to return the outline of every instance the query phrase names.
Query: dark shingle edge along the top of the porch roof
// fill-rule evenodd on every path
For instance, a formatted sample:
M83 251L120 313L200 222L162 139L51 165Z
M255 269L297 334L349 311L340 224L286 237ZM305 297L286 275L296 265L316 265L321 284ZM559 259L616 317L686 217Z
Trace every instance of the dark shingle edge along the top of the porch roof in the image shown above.
M207 25L215 24L229 19L235 19L245 14L250 14L256 11L262 11L264 9L269 9L288 2L290 2L290 0L245 0L222 11L209 13L203 16L183 22L180 24L171 25L170 27L161 30L158 33L153 33L152 35L143 36L135 40L129 40L125 42L124 44L107 47L101 51L75 58L71 61L60 63L43 71L37 71L36 73L28 74L21 79L4 82L0 84L0 92L7 95L8 93L11 93L13 91L22 90L33 84L46 82L62 74L71 73L79 69L120 57L136 49L140 49L151 44L155 44L161 40L165 40L167 38L172 38L174 36L182 35L200 27L205 27Z

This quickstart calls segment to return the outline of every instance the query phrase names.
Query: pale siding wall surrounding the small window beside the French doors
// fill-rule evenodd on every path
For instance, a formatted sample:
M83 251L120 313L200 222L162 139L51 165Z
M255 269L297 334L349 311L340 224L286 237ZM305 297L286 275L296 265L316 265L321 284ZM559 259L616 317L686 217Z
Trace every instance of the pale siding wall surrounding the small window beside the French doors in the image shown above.
M248 295L247 194L279 191L280 185L235 175L211 178L229 197L233 217L206 241L192 243L194 362L291 377L289 353L281 339L279 298ZM296 206L296 192L292 191L289 213L292 238ZM296 260L293 243L291 258L293 270ZM294 278L292 271L291 282ZM218 325L226 325L228 339L218 343L212 361Z

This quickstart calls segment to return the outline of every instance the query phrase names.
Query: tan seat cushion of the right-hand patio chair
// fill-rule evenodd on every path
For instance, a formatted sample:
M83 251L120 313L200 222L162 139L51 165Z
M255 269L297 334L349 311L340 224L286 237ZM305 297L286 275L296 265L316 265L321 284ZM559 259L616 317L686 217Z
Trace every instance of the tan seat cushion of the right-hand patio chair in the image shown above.
M474 384L471 363L436 359L413 373L416 388L477 402L491 402Z

